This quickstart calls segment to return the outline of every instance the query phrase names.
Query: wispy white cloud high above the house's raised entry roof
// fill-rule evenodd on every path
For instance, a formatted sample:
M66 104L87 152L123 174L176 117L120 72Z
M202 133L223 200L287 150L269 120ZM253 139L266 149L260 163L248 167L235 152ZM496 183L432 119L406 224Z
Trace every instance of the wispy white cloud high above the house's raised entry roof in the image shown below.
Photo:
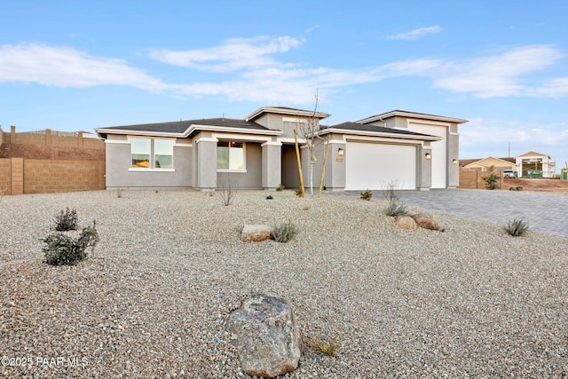
M278 66L270 54L286 52L303 42L290 37L233 38L216 47L187 51L153 50L150 58L174 66L227 73L242 69Z

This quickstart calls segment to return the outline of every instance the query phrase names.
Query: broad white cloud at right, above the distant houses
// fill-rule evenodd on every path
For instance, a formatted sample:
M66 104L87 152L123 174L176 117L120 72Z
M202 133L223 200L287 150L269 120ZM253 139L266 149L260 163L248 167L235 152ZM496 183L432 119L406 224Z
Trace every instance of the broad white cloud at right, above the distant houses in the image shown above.
M503 96L551 96L566 94L563 83L552 81L546 87L531 87L522 81L524 75L548 67L563 58L549 45L525 46L479 59L449 61L432 73L438 88L458 93L469 92L477 98Z

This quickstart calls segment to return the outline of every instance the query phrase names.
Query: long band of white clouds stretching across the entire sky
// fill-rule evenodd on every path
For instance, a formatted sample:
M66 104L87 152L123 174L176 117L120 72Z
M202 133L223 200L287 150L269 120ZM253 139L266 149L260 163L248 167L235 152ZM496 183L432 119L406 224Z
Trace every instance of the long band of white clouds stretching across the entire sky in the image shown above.
M524 46L475 59L407 59L375 67L310 67L277 55L298 49L303 40L260 36L231 39L218 46L188 51L152 51L163 63L206 73L223 73L209 82L164 83L123 59L94 57L69 47L28 43L0 46L0 83L40 83L58 87L127 85L173 96L217 96L234 101L311 104L314 88L322 99L333 91L387 78L430 78L435 88L490 99L568 96L568 77L535 80L535 73L564 54L552 45Z

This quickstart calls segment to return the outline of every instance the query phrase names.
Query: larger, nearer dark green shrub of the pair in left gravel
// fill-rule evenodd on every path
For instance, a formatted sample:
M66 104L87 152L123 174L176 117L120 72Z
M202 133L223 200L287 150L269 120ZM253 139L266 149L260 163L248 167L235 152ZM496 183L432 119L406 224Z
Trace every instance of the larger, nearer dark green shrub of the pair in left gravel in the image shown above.
M99 233L92 226L83 228L83 232L76 239L64 233L50 234L42 240L45 262L48 265L76 265L87 257L87 248L95 249L99 242Z

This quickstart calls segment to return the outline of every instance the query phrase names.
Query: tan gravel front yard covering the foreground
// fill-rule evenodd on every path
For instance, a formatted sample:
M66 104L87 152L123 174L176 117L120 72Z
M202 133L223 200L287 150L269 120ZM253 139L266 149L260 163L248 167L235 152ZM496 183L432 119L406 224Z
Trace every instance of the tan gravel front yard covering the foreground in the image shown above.
M0 376L244 377L225 318L256 293L292 305L306 347L290 378L568 376L568 239L427 212L446 232L398 229L383 199L127 190L0 201ZM61 209L100 242L43 264ZM291 221L288 243L240 241Z

